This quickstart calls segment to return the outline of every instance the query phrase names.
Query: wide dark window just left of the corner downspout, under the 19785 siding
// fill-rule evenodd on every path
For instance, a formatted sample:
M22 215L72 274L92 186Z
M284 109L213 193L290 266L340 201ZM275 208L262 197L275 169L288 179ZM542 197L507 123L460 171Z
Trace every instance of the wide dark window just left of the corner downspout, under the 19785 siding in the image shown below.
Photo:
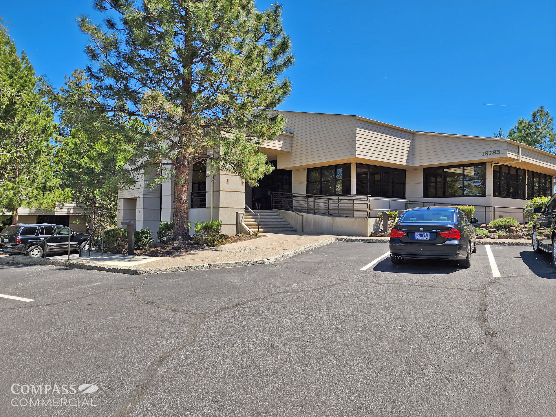
M486 195L486 163L424 168L424 197L477 197Z

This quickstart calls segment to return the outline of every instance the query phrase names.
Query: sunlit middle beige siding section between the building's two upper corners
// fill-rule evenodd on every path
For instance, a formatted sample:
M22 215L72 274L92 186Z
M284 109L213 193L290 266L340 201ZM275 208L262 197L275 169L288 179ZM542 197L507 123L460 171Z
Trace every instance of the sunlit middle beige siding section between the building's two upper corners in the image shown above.
M413 133L357 121L357 156L374 161L413 164Z

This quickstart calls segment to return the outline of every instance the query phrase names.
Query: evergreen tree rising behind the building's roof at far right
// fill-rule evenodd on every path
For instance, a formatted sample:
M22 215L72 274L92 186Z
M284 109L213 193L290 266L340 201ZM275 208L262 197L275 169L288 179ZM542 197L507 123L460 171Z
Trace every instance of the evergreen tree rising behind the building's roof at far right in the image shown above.
M508 132L508 139L555 153L554 118L544 106L540 106L531 113L530 120L519 118L517 124Z

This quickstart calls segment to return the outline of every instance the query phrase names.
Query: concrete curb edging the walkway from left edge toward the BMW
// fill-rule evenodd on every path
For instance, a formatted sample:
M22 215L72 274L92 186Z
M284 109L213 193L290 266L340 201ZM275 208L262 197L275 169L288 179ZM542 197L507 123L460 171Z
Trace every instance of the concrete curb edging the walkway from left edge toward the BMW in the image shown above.
M7 261L3 262L3 260L0 260L0 263L28 264L28 265L55 265L55 266L64 266L64 267L75 268L75 269L117 272L119 274L128 274L128 275L153 275L153 274L162 274L163 272L199 271L205 269L233 268L237 266L272 264L274 262L278 262L283 259L289 258L290 256L298 255L301 254L302 252L306 252L320 246L331 244L332 242L335 242L334 238L330 238L320 242L316 242L314 244L302 246L297 249L287 251L284 252L283 254L272 256L269 258L249 259L244 261L231 261L231 262L210 262L207 264L197 264L197 265L165 266L160 268L126 268L126 267L118 267L118 266L91 265L91 264L82 264L81 262L53 260L48 258L34 258L30 256L21 256L21 255L10 256L7 259Z

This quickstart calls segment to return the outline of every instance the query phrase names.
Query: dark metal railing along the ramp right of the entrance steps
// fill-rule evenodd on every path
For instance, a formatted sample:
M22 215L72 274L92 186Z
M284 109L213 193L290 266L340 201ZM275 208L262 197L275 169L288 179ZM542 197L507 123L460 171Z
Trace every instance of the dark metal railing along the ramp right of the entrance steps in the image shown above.
M335 217L380 217L383 211L404 212L409 200L370 196L319 196L289 192L272 193L273 210L289 210ZM282 208L288 207L287 209ZM387 206L387 207L386 207Z

